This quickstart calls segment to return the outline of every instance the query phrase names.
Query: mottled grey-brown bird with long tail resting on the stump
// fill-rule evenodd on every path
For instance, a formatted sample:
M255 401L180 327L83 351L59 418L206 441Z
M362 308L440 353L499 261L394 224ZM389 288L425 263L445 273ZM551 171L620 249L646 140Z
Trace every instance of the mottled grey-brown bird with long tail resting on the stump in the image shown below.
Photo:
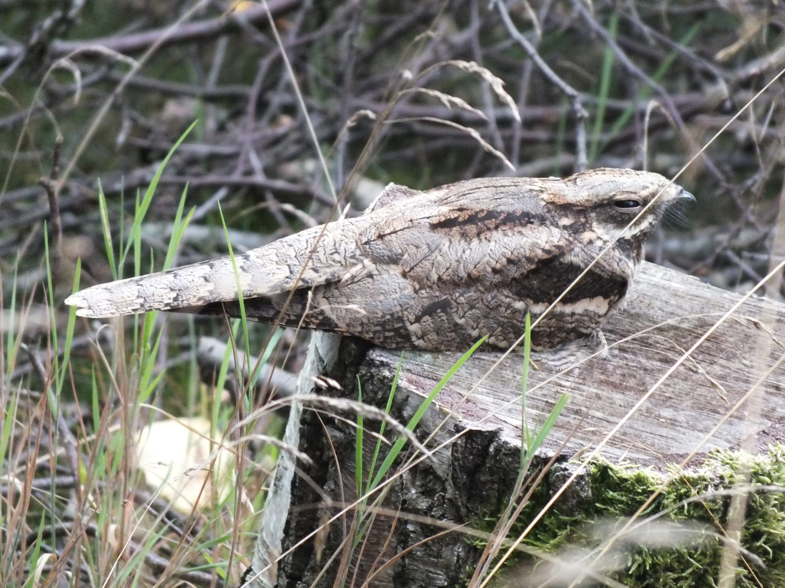
M630 228L649 202L656 201ZM601 332L644 240L678 198L656 173L592 169L564 179L485 178L420 192L390 184L366 214L260 249L97 285L66 303L84 317L148 310L246 316L345 333L382 347L507 349L612 241L532 332L549 350Z

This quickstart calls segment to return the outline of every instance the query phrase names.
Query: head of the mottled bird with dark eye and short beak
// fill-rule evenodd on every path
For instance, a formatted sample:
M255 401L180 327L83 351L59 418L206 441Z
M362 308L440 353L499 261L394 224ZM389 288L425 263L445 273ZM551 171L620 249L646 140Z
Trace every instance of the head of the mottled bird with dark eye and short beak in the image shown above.
M642 244L670 206L695 200L659 173L633 169L589 169L564 182L564 200L582 209L593 231L604 239Z

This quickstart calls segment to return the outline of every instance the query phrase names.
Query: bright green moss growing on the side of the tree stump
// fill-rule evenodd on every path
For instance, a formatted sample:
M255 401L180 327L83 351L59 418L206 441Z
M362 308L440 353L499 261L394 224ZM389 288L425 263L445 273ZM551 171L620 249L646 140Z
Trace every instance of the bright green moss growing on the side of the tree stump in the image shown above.
M699 522L721 533L717 524L726 523L728 496L682 503L696 495L731 488L742 479L747 467L751 468L752 484L785 486L785 446L772 445L765 455L756 457L714 452L698 473L671 482L645 514L670 510L665 520ZM622 520L634 514L662 480L662 474L653 470L604 462L594 465L589 477L591 498L579 502L570 514L558 506L551 510L528 535L528 546L549 552L568 545L596 547L599 539L594 536L596 526L592 523ZM546 489L538 489L510 535L519 535L548 499ZM494 517L487 517L480 526L490 531L495 522ZM750 572L739 560L737 588L785 586L785 494L763 489L750 493L742 543L761 558L765 569L750 562ZM630 547L624 552L626 567L611 575L636 588L710 588L716 586L721 551L721 542L714 537L689 547ZM517 557L520 562L524 556Z

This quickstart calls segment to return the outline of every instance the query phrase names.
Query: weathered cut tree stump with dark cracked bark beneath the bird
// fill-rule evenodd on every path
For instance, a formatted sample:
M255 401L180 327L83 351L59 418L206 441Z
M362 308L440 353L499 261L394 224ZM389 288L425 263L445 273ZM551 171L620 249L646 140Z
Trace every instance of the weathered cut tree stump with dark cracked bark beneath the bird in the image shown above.
M644 263L625 307L604 327L610 346L607 358L590 359L562 374L530 371L527 410L532 425L544 421L561 394L570 395L535 460L542 466L560 450L557 465L542 485L541 504L577 469L583 470L582 474L575 477L554 508L575 521L584 506L604 500L606 488L590 474L595 466L585 467L582 461L587 456L596 458L592 464L623 464L627 472L641 471L647 479L657 480L671 464L681 463L692 453L695 456L687 464L688 471L703 476L700 468L707 456L739 448L753 448L762 456L772 451L772 444L783 441L785 370L773 370L750 395L751 400L733 410L761 374L785 353L780 343L785 341L785 305L757 296L744 302L628 415L685 350L739 299L738 294L697 278ZM359 383L363 402L385 408L400 361L390 414L406 424L459 357L401 354L369 347L356 339L316 334L298 381L298 394L312 393L312 376L323 374L341 383L342 389L317 390L318 394L356 399ZM415 433L420 441L428 440L429 448L445 445L389 485L383 504L400 514L375 517L362 546L353 550L351 539L345 538L353 532L356 511L349 509L326 523L342 506L357 499L356 427L352 426L356 414L330 416L303 411L295 403L284 441L309 455L313 463L295 463L282 452L252 570L246 575L249 584L265 588L333 586L339 568L348 569L344 586L362 586L369 576L370 586L436 588L465 583L481 549L464 533L444 532L444 526L430 523L436 519L487 526L487 520L492 521L509 498L520 467L523 361L520 354L511 354L482 379L499 357L482 352L480 347L440 391ZM597 445L623 420L623 426L593 455ZM719 423L717 431L705 440ZM378 422L366 418L364 427L377 431ZM389 427L385 436L392 441L397 437ZM363 471L367 472L376 440L368 433L364 439ZM753 439L754 443L750 442ZM382 457L387 448L389 445L382 446ZM404 451L401 456L412 453ZM391 471L400 463L399 457ZM715 474L706 475L714 487L732 481L729 474L717 474L721 480ZM325 527L316 532L320 525Z

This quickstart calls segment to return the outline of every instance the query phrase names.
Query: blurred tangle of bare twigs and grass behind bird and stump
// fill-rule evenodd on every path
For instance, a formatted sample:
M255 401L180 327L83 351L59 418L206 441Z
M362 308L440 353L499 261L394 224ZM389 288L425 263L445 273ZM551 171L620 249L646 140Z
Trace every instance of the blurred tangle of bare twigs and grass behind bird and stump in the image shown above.
M221 494L216 484L213 499L228 506L200 518L153 504L134 474L131 446L140 443L133 433L111 441L118 423L137 430L151 419L152 408L138 405L133 416L124 414L123 394L131 390L149 394L159 410L207 419L208 437L253 408L236 402L235 358L228 361L221 347L230 325L174 317L166 325L159 318L155 329L129 320L124 330L119 322L107 328L71 317L67 340L62 299L77 268L83 287L117 272L162 267L186 187L185 210L194 212L174 265L228 252L219 202L232 247L241 252L335 218L346 205L347 214L359 214L391 181L425 190L480 176L567 176L601 166L671 177L729 124L678 178L697 201L663 223L647 258L725 289L748 289L766 273L785 194L785 82L773 82L732 117L785 67L780 2L268 0L268 6L269 18L256 2L0 0L0 400L17 407L6 409L2 437L4 452L14 456L3 488L5 585L21 586L38 571L49 585L82 578L120 586L136 578L153 586L179 578L210 586L219 577L236 582L247 563L253 517L245 513L248 527L235 533L235 515L243 504L253 512L261 506L275 449L261 441L241 445L250 470L256 468L253 482L241 467L233 474L247 481L246 495ZM464 65L444 64L450 60ZM493 76L506 94L493 87ZM193 122L142 220L137 194L144 195ZM130 242L135 218L138 249L113 268L105 236L116 255ZM303 361L305 336L252 325L246 340L252 354L270 352L281 378L276 390L285 391ZM70 364L58 363L64 353ZM152 384L141 390L147 368ZM254 406L271 395L258 388ZM256 431L276 434L280 423L269 412ZM106 444L97 444L101 439ZM61 463L57 448L69 440L81 444L79 452ZM99 455L108 461L97 466ZM24 491L15 498L16 482L8 477L14 468ZM76 482L86 471L104 479L94 491L106 502L93 505L86 526L75 530L74 510L89 510ZM152 513L148 527L158 529L151 535L158 543L147 538L124 551L124 540L141 541L127 504ZM49 535L37 532L50 525ZM184 536L196 545L187 553L172 546ZM71 537L82 541L81 560L75 544L68 547ZM137 556L147 567L133 572ZM64 575L80 565L81 575Z

